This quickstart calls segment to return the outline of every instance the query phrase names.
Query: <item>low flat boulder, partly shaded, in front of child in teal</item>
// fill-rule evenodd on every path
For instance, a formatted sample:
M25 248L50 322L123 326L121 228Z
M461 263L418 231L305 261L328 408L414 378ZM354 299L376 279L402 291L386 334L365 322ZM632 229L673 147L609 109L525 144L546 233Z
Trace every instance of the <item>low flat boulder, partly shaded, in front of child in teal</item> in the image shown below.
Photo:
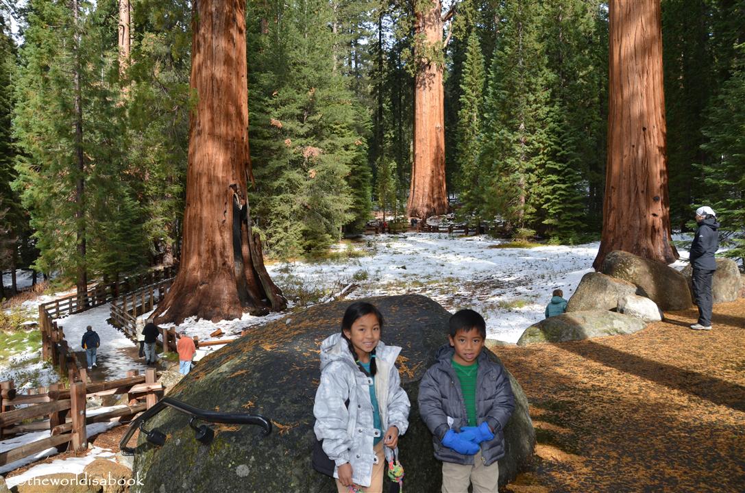
M517 341L518 346L535 343L565 343L591 337L633 334L647 326L647 322L607 310L574 311L530 325Z

